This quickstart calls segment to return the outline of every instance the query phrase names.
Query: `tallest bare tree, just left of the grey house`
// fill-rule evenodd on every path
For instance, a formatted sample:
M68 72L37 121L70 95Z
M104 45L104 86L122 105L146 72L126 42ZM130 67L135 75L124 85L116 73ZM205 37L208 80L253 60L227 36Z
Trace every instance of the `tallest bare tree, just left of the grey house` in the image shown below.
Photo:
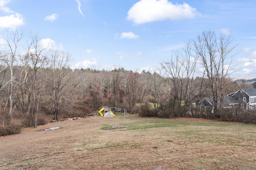
M232 45L231 35L214 31L203 31L198 37L192 40L193 50L198 57L198 61L203 66L212 91L214 108L218 108L218 99L222 107L224 81L230 74L228 72L234 55L231 54L236 45ZM219 97L220 96L220 97Z

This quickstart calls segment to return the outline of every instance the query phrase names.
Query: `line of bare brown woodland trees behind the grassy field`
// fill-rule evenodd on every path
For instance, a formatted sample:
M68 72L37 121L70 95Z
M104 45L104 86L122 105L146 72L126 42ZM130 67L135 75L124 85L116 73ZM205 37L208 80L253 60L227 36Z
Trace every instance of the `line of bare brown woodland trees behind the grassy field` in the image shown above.
M91 111L109 106L138 113L140 106L152 103L162 117L196 115L194 106L203 97L213 96L217 108L224 95L238 88L230 78L235 47L231 35L207 30L153 72L72 70L71 55L42 44L38 33L7 31L0 48L0 118L3 126L11 125L16 110L37 127L42 106L58 120L63 108L79 102Z

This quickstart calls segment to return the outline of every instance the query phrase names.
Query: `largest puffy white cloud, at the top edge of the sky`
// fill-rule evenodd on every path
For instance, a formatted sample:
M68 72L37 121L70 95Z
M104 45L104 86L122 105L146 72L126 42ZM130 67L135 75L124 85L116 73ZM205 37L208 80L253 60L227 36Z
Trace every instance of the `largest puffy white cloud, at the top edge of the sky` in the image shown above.
M192 19L200 15L189 4L172 4L168 0L140 0L128 11L127 20L147 23L162 20Z

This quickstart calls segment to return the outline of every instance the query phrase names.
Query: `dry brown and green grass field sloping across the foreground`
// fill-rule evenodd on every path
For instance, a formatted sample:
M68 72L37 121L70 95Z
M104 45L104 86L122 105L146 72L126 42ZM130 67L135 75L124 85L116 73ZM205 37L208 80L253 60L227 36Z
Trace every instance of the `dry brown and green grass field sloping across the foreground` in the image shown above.
M44 131L50 127L60 127ZM103 130L120 126L122 129ZM100 116L0 138L0 169L253 170L256 126L205 119Z

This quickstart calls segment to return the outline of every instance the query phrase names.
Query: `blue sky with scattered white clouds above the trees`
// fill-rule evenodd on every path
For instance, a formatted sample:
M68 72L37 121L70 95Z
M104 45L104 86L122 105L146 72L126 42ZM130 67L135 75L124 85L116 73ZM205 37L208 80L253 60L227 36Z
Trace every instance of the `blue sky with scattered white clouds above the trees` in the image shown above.
M0 0L7 28L39 33L72 68L152 70L204 30L238 44L232 78L256 77L255 0Z

